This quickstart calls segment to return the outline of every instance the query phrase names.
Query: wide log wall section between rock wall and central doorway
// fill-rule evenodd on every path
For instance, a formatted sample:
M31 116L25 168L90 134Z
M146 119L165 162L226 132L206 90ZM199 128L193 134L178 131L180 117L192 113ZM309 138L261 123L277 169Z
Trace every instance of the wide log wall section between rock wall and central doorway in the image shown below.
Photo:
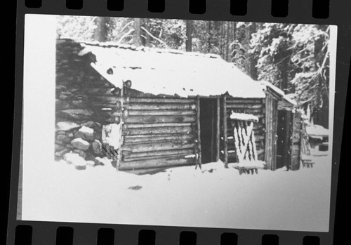
M119 170L196 164L197 98L124 100Z

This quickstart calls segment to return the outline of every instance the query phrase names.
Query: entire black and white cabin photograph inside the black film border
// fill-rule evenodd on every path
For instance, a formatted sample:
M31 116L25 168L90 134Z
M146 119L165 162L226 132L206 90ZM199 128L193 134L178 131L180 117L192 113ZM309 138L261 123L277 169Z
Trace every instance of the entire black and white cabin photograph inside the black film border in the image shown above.
M336 36L27 14L18 220L328 232Z

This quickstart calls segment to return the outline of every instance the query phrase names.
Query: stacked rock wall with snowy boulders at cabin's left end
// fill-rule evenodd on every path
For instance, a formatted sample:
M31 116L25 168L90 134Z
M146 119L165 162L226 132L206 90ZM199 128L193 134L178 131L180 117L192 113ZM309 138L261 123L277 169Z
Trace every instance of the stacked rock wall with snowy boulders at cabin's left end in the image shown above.
M80 169L87 163L103 165L102 126L108 115L100 117L102 108L94 106L88 92L112 85L91 67L93 55L78 55L80 44L60 39L56 48L55 159Z

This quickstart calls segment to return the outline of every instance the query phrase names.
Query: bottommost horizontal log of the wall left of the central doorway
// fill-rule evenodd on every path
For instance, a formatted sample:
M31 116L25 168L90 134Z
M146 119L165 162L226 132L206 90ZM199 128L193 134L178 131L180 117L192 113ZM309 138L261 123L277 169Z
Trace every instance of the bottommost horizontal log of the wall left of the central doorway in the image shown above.
M119 170L131 170L142 168L157 168L169 166L189 166L195 164L195 158L182 158L182 157L166 157L160 159L140 160L140 161L121 161Z

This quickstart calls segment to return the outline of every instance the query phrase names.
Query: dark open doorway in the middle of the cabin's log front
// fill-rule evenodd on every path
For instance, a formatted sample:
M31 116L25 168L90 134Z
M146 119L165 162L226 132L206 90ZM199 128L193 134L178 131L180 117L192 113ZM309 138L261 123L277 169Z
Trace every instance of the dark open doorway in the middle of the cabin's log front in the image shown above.
M216 98L200 99L201 162L217 161L218 104Z

